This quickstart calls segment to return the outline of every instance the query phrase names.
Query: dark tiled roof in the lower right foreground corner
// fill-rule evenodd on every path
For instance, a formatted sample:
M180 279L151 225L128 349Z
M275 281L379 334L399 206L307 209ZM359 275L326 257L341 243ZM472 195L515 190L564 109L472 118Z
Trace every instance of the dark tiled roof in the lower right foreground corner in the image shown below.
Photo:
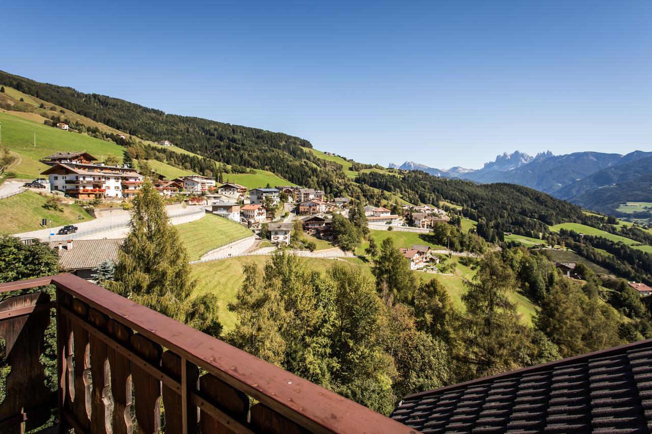
M652 340L406 396L424 433L652 432Z

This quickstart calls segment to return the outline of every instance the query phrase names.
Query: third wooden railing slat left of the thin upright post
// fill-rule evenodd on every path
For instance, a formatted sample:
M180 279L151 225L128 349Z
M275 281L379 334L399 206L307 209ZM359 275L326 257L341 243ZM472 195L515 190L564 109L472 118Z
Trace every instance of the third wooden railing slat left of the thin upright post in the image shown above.
M111 319L106 330L116 341L129 345L132 330ZM113 434L131 434L132 382L131 364L125 356L113 348L108 349L111 370L111 394L113 395Z

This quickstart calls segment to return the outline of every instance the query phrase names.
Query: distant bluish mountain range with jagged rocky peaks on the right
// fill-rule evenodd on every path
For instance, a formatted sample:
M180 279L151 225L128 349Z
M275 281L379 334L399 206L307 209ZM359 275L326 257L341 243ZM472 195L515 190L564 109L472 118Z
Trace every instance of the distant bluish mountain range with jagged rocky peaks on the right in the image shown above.
M436 169L415 162L389 167L481 183L520 184L600 212L614 212L619 203L626 201L652 201L652 188L649 188L652 152L621 155L589 151L553 155L546 151L530 156L515 151L496 156L496 160L484 164L482 169Z

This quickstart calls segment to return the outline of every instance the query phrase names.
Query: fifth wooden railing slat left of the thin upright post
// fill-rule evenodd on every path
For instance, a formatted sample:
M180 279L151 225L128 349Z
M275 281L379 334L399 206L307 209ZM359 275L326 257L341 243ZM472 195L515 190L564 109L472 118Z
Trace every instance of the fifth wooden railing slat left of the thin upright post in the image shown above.
M87 320L88 306L80 300L72 300L72 310ZM89 342L88 332L78 323L72 325L73 356L74 356L74 390L75 396L72 401L72 409L78 423L84 428L89 429L91 420L89 419L89 409L91 406L89 368L90 358L87 352Z

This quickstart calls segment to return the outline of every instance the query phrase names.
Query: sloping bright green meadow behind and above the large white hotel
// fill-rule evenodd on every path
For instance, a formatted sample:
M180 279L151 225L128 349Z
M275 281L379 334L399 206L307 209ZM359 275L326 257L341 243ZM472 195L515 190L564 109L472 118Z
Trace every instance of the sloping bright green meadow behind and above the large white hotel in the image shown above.
M38 124L22 117L0 112L3 145L20 154L21 162L12 168L18 178L37 178L48 168L40 158L58 151L87 151L100 160L109 154L122 161L125 148L95 137ZM34 133L37 146L34 146Z

